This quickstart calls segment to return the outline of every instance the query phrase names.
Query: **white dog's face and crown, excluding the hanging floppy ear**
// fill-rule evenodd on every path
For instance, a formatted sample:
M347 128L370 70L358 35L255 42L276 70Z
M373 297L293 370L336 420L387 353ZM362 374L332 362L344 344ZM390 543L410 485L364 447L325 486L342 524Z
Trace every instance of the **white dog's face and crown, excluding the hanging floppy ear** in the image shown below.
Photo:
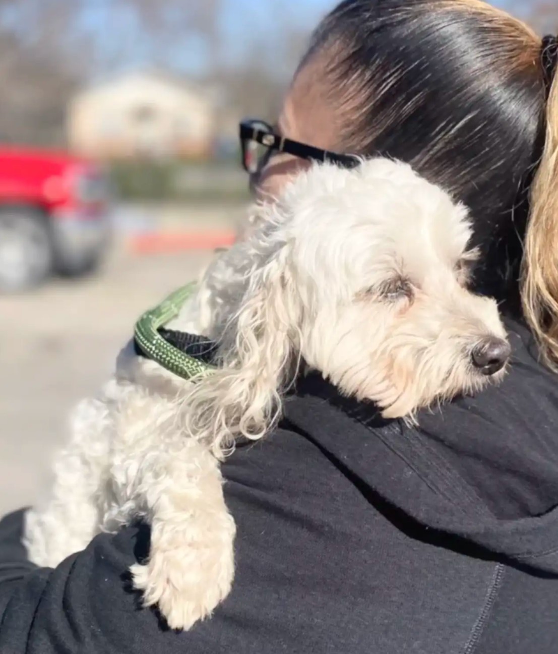
M495 301L468 290L467 210L402 163L325 166L279 211L304 360L386 417L482 388L510 355Z

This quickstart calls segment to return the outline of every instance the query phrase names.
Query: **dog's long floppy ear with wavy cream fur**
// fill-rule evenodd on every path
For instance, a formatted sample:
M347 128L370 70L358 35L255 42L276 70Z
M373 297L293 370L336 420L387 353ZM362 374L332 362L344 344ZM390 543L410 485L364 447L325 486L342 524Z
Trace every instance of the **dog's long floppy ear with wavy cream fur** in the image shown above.
M235 439L258 439L277 421L300 351L301 301L284 245L254 264L220 345L222 366L186 399L187 428L221 455Z

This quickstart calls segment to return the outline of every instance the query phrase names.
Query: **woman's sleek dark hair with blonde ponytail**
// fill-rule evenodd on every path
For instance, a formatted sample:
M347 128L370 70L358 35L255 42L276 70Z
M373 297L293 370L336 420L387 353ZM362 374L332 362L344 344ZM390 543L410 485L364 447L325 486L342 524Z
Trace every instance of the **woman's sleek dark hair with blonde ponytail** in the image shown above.
M547 105L542 39L480 0L345 0L304 61L324 52L338 149L411 163L467 204L480 287L511 305L523 264L525 315L557 360L558 82Z

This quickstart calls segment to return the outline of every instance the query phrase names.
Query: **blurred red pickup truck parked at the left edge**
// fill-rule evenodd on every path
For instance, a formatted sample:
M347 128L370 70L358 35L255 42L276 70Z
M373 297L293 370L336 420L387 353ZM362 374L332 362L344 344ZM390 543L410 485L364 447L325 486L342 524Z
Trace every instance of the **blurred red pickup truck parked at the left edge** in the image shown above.
M0 145L0 291L97 266L109 241L109 205L98 165Z

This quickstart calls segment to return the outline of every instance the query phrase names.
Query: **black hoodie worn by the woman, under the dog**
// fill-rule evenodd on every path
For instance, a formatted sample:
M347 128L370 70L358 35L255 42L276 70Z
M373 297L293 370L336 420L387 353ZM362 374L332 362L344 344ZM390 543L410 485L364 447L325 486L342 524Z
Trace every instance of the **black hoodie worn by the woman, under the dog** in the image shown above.
M233 592L189 633L140 610L145 526L56 570L0 525L0 653L556 654L558 386L508 325L512 370L419 428L316 375L281 428L225 464Z

